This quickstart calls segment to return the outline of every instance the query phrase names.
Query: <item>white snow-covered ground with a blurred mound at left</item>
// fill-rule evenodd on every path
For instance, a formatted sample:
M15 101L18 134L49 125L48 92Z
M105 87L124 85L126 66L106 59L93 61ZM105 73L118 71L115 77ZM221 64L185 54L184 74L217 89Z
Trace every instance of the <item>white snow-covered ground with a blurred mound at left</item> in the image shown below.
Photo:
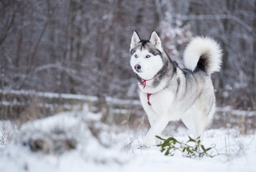
M255 133L207 130L203 144L216 145L219 153L227 155L191 159L179 152L165 156L157 146L137 149L147 132L145 127L108 126L100 118L101 114L86 110L64 112L27 122L20 129L1 121L0 138L6 137L8 129L14 138L0 147L0 172L256 172ZM183 128L176 132L167 128L163 133L167 133L164 138L183 141L190 134Z

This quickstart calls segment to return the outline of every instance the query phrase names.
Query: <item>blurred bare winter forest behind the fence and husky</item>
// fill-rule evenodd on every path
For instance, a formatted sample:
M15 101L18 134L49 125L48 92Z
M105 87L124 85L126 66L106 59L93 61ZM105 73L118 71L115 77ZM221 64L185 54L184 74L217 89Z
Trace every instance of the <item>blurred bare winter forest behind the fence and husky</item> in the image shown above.
M0 89L137 99L134 30L180 67L192 36L217 40L217 106L256 109L256 0L0 0Z

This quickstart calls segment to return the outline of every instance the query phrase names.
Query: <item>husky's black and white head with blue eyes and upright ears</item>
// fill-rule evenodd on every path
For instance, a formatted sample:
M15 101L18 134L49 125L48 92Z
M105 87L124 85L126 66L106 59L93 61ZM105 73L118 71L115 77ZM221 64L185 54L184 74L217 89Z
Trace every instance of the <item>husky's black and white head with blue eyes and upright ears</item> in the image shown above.
M152 32L149 40L141 40L136 31L131 37L131 68L144 80L153 78L163 67L163 48L157 33Z

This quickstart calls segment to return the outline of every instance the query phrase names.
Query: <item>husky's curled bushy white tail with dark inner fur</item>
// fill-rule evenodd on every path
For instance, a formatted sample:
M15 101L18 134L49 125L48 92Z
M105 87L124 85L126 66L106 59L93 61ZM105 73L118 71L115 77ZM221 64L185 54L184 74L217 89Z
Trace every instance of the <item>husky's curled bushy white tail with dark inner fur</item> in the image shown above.
M185 67L194 71L204 69L208 75L221 69L222 51L220 45L209 37L194 37L184 52Z

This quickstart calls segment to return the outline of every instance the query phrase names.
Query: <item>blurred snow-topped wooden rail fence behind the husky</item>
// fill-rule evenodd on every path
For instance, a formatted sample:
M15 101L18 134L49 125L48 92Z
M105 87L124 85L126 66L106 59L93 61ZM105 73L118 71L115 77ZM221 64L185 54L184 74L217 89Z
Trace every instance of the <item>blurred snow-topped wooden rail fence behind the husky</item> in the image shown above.
M0 120L19 119L24 113L35 109L41 117L45 117L85 105L90 112L103 113L103 120L108 123L136 123L138 118L145 115L140 100L0 89ZM256 128L256 111L236 110L231 106L217 107L212 127L227 124L243 125L245 130Z

